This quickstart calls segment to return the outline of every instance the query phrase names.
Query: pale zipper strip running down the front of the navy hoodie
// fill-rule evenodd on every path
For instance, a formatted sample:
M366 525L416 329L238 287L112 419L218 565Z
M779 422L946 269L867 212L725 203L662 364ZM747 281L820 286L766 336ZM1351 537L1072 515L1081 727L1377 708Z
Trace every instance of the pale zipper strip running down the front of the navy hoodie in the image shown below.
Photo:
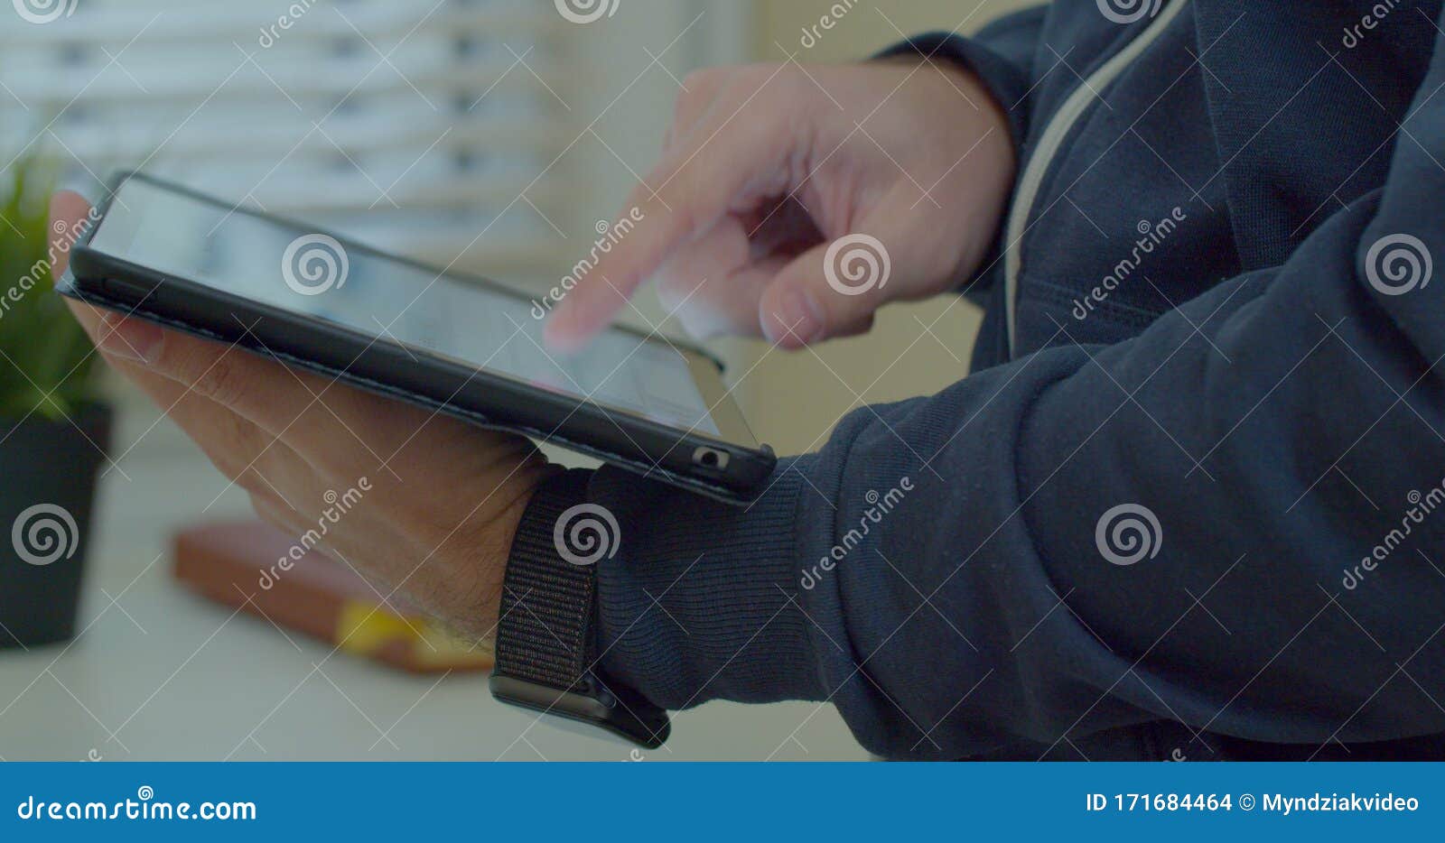
M1007 318L1009 329L1009 357L1012 358L1017 352L1017 310L1019 310L1019 273L1023 268L1023 254L1022 254L1022 238L1025 228L1029 225L1029 215L1033 212L1033 204L1039 198L1039 191L1043 188L1043 176L1048 175L1049 166L1053 159L1059 154L1059 149L1064 146L1064 140L1068 137L1074 126L1078 124L1079 118L1088 113L1090 107L1100 100L1103 94L1095 94L1095 91L1103 91L1124 72L1129 65L1134 62L1155 40L1163 35L1165 29L1173 23L1173 19L1179 16L1185 7L1189 6L1189 0L1176 0L1170 3L1168 9L1163 10L1155 22L1144 29L1139 38L1129 42L1124 49L1114 53L1111 59L1104 62L1101 68L1094 71L1088 79L1079 84L1078 88L1069 94L1069 98L1064 101L1064 105L1053 113L1049 123L1045 126L1043 133L1039 136L1039 144L1029 159L1027 166L1023 169L1023 176L1019 179L1019 189L1014 193L1013 211L1009 212L1009 225L1006 228L1007 238L1004 240L1004 310Z

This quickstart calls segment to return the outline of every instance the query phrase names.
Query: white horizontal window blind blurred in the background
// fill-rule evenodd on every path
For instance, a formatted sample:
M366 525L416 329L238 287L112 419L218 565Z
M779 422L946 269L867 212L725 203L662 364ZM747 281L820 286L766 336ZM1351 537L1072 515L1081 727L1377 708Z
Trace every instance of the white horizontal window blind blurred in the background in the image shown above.
M572 25L553 3L14 4L3 160L39 143L85 179L140 167L439 263L555 257Z

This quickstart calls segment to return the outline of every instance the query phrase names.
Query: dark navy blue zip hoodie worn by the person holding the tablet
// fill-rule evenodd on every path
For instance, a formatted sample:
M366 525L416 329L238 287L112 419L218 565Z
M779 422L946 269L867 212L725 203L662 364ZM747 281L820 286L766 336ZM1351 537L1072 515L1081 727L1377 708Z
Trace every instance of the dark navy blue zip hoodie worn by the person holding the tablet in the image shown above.
M746 511L592 476L608 674L894 758L1445 758L1441 4L1153 6L900 48L1020 149L975 371Z

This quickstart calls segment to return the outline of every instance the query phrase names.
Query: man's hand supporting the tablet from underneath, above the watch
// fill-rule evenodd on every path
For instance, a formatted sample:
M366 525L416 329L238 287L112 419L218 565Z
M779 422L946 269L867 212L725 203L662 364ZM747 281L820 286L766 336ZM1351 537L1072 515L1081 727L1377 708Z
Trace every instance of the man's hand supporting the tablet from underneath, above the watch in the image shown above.
M87 211L82 198L56 195L51 214L65 227L55 230ZM491 632L513 533L553 471L530 442L90 305L71 309L105 361L250 492L266 521L296 536L325 521L322 549L383 595L471 635ZM325 518L363 476L360 502Z

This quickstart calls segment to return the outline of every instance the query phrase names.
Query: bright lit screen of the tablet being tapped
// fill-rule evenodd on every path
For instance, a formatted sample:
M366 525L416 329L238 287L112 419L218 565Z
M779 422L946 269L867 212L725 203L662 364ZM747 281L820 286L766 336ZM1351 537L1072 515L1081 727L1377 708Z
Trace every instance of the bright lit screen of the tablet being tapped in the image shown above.
M692 361L666 342L610 329L564 357L543 345L539 309L522 294L342 247L143 179L117 192L91 248L379 341L718 436Z

